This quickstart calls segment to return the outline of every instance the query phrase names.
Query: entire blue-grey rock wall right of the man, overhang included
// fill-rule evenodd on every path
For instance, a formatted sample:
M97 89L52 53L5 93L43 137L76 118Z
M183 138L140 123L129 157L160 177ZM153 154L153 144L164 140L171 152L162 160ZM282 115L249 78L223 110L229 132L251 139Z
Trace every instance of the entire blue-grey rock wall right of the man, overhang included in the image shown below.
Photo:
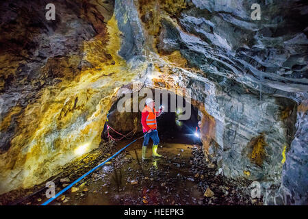
M172 12L162 6L160 31L149 28L149 33L157 40L157 53L166 57L179 51L177 59L188 61L181 63L189 71L175 64L174 55L169 59L173 65L167 66L172 73L182 72L179 86L193 88L193 98L216 121L214 141L208 149L203 144L205 153L228 177L260 181L264 189L279 185L284 156L292 146L298 147L291 144L296 102L307 99L307 28L300 23L307 18L307 6L303 1L186 3ZM261 5L261 21L251 20L253 3ZM287 185L291 196L296 193L305 203L307 188L294 190L284 182L287 178L283 177L281 187ZM300 171L296 181L303 183L302 179L307 176Z

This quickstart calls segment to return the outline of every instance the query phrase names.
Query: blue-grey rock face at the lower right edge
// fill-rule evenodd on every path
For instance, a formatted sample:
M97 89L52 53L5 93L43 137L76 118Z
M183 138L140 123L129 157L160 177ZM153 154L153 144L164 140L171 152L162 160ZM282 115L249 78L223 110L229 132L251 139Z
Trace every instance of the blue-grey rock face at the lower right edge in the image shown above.
M281 186L276 191L266 192L266 203L270 205L307 205L307 101L298 107L296 134L287 153L281 175Z

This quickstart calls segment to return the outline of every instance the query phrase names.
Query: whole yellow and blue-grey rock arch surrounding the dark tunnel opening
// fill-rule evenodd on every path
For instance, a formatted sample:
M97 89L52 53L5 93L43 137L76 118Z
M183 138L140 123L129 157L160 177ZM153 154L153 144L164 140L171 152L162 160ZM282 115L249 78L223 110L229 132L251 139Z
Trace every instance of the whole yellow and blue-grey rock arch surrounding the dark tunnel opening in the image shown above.
M304 1L66 0L55 21L44 1L0 4L0 193L99 146L118 89L138 84L191 91L218 172L307 204Z

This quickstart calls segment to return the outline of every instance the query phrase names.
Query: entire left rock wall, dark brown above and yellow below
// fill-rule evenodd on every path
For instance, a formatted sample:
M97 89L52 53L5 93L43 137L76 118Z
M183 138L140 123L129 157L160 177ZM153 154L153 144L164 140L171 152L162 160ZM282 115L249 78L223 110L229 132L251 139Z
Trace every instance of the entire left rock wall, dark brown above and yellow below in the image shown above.
M97 148L116 89L140 70L117 53L114 2L1 2L0 193L42 183Z

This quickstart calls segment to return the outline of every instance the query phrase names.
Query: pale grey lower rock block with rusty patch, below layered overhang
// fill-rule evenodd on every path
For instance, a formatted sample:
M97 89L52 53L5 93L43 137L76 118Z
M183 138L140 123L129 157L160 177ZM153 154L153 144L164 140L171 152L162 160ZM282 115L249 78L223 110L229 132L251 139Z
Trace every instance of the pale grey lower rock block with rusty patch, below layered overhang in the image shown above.
M174 74L181 79L180 88L191 89L192 104L205 117L201 136L209 161L227 177L279 184L283 151L289 151L295 133L296 102L266 94L260 100L258 92L236 83L218 86L181 69ZM163 87L177 82L168 83ZM258 138L264 145L254 141Z

